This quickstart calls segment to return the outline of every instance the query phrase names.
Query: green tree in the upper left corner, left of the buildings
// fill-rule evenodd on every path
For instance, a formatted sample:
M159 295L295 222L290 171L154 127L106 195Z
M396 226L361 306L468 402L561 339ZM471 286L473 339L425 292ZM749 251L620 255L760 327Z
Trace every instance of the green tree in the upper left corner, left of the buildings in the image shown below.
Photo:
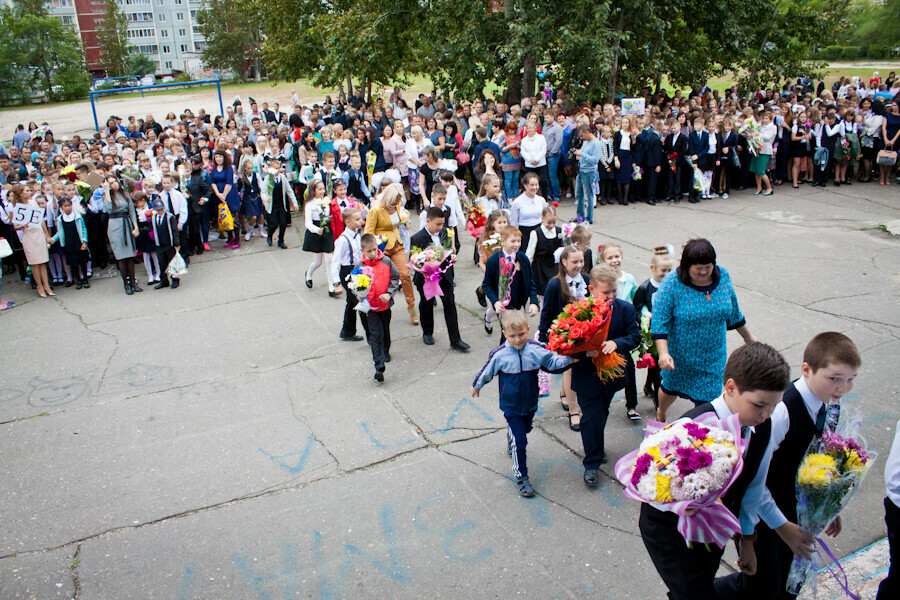
M18 73L13 81L22 95L40 90L56 100L87 94L81 38L51 17L40 0L15 0L0 8L0 48L0 65Z

